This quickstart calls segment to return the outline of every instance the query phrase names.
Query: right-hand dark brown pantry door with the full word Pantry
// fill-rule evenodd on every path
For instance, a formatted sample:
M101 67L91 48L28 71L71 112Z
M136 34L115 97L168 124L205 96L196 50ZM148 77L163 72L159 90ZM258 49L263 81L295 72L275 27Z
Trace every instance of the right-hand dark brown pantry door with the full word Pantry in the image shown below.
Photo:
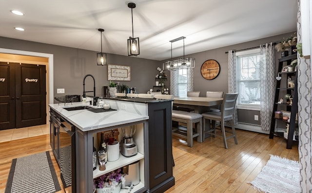
M44 65L16 66L16 128L46 124Z

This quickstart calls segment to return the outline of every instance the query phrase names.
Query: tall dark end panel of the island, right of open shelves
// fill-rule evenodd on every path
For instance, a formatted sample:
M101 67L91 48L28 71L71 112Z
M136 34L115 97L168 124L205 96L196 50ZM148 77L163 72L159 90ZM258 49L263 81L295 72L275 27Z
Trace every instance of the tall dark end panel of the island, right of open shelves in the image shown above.
M172 159L171 101L148 104L149 192L163 193L175 185Z

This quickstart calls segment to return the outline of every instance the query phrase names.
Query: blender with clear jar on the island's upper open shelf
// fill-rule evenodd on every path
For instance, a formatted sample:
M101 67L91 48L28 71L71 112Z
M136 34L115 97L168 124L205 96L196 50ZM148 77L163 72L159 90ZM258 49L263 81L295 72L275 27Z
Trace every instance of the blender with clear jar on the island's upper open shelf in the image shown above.
M122 127L123 140L121 144L121 154L124 157L132 157L137 155L137 145L133 140L133 135L136 133L137 125Z

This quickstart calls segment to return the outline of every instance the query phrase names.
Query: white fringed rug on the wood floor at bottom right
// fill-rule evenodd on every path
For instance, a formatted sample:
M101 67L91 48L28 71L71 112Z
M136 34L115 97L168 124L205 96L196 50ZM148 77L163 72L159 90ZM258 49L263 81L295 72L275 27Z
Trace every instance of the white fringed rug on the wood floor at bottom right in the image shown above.
M265 193L300 193L299 163L271 155L260 174L249 182Z

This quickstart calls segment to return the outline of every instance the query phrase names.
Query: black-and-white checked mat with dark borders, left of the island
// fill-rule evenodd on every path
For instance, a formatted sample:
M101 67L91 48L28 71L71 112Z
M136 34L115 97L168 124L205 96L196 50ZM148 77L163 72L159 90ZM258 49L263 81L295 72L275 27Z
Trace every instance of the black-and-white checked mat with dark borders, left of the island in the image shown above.
M12 160L5 193L55 193L60 190L49 152Z

